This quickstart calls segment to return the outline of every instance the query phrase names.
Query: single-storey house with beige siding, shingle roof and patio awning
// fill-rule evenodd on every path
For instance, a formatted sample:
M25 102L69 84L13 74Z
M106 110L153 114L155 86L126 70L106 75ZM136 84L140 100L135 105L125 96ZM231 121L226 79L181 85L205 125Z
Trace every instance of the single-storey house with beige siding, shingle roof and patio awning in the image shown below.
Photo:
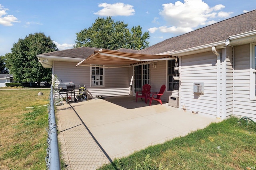
M135 95L143 84L157 92L166 84L162 101L174 96L181 109L256 120L255 51L256 10L140 51L80 47L37 57L52 68L56 84L85 84L92 96ZM176 60L179 80L173 78Z

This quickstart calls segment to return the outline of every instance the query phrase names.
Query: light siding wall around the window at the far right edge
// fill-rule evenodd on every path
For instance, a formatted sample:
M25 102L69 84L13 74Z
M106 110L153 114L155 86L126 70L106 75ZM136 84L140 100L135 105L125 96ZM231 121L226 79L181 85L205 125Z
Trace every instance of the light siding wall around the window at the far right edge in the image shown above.
M256 101L250 100L250 45L234 50L234 115L256 119Z

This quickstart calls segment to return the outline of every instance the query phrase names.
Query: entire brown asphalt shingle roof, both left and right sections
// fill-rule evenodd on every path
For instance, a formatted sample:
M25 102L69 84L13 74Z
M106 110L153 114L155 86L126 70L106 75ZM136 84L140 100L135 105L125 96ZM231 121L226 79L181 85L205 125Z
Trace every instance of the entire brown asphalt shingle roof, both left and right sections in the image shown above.
M116 51L156 55L167 51L180 51L183 49L198 47L200 45L224 41L231 35L237 35L253 30L256 30L256 10L196 29L195 31L177 37L166 39L146 49L133 50L121 48ZM93 54L94 51L99 50L100 48L79 47L40 55L86 59Z

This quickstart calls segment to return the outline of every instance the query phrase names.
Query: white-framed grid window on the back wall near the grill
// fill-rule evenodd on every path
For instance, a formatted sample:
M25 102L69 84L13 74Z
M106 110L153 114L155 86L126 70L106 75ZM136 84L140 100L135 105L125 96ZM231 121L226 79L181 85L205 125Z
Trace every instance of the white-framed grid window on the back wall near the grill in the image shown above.
M104 86L103 65L91 65L91 86Z

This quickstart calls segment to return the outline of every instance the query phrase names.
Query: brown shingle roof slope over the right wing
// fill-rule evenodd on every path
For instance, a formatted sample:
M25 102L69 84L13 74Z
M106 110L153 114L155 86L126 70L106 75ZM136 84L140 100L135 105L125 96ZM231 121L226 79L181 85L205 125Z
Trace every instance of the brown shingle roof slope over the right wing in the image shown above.
M180 51L200 45L224 41L231 35L256 30L256 10L224 20L195 31L166 39L140 50L143 54L160 54L167 51Z

